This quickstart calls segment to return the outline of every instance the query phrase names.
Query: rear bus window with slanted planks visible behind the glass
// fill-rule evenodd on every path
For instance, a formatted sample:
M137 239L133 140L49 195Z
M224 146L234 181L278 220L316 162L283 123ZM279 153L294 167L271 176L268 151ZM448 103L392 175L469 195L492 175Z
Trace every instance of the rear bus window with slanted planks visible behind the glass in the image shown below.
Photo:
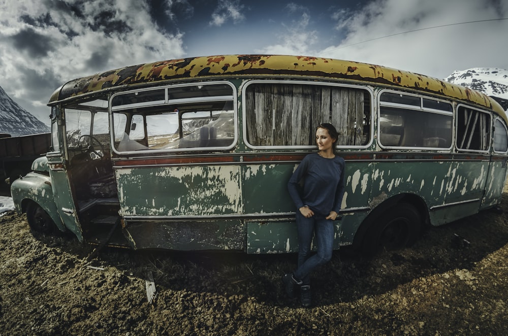
M487 151L490 146L490 115L464 106L457 109L457 148Z

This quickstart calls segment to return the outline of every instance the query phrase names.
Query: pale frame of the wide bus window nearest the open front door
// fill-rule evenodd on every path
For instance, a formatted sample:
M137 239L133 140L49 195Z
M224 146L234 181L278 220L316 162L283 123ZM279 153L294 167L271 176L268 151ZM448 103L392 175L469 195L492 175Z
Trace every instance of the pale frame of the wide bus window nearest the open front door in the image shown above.
M168 90L171 88L177 87L189 87L189 86L207 86L207 85L217 85L217 84L225 84L232 88L232 94L227 96L210 96L209 99L204 99L204 97L190 97L190 98L178 98L178 99L169 99L168 98ZM139 104L128 104L121 105L118 107L112 107L112 101L115 96L121 94L128 94L133 92L141 92L141 91L150 91L150 90L165 90L165 100L162 102L161 100L155 100L153 104L151 102L143 102ZM234 148L239 139L238 135L238 93L236 86L230 81L209 81L209 82L192 82L192 83L179 83L172 85L161 85L155 87L148 88L139 88L132 89L126 91L115 92L109 97L108 100L108 110L109 110L109 124L113 124L113 113L122 113L122 111L133 109L133 108L149 108L149 107L161 107L170 104L184 104L184 103L196 103L196 102L217 102L220 100L229 100L233 103L233 126L234 126L234 138L231 142L231 145L226 147L192 147L192 148L170 148L170 149L142 149L142 150L129 150L129 151L119 151L115 146L115 134L110 131L110 142L111 148L113 152L119 156L133 156L133 155L141 155L141 154L178 154L182 152L212 152L212 151L228 151Z

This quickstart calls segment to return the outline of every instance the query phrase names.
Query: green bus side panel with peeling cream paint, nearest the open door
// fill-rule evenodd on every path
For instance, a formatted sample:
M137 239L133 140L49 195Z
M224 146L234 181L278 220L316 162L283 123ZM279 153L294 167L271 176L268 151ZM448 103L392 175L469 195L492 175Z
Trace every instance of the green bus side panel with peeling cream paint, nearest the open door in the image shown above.
M124 217L243 213L238 165L134 167L115 174Z

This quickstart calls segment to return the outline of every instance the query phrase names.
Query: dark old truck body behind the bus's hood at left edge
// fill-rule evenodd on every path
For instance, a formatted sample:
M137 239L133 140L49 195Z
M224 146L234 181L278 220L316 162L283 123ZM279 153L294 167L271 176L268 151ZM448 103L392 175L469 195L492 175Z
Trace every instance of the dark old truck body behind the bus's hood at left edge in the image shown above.
M20 137L0 134L0 178L14 180L30 172L32 162L50 151L51 133Z

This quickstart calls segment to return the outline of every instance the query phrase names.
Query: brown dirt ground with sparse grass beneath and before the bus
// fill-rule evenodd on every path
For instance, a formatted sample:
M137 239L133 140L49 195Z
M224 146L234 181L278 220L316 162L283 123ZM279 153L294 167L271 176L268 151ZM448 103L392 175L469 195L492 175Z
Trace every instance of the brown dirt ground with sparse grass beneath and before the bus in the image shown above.
M508 194L375 258L337 251L309 309L284 296L296 255L135 252L30 232L0 217L0 336L504 334ZM146 279L156 296L148 303Z

